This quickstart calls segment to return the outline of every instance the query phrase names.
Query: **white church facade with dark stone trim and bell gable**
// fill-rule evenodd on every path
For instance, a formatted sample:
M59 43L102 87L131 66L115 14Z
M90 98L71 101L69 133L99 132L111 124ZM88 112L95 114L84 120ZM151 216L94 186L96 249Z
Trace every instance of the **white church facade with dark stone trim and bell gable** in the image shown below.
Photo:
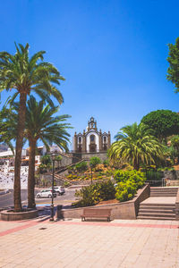
M107 152L111 146L110 131L98 131L97 121L93 117L88 122L88 127L82 133L74 133L73 153L101 153Z

